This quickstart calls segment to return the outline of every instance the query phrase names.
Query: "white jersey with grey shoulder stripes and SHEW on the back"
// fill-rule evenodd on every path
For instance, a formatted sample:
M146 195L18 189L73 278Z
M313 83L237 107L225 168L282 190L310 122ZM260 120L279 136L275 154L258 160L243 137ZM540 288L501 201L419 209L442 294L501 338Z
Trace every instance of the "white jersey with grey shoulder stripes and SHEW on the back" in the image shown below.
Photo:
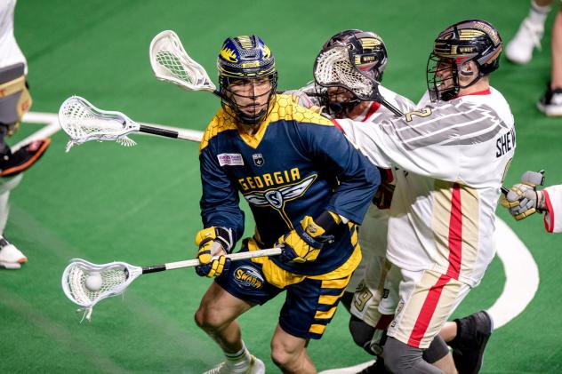
M500 92L431 103L378 126L337 120L382 168L397 167L387 258L474 286L494 258L495 208L515 151Z

